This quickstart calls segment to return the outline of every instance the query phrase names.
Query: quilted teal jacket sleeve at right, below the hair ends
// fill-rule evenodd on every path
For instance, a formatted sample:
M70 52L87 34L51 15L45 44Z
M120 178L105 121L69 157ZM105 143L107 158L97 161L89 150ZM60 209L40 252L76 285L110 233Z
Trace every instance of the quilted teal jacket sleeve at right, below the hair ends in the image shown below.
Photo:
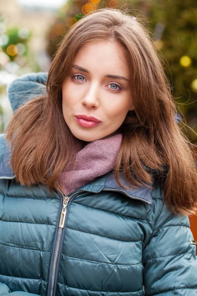
M196 245L189 218L173 214L162 199L155 202L160 214L142 256L145 296L197 296Z

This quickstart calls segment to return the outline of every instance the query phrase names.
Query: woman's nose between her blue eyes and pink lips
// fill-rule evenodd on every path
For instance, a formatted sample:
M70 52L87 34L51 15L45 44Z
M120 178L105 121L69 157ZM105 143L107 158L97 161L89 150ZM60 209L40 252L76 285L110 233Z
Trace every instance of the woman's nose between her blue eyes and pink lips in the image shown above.
M92 85L87 86L85 91L85 95L81 101L82 105L87 108L95 108L99 107L99 87L98 84L92 83Z

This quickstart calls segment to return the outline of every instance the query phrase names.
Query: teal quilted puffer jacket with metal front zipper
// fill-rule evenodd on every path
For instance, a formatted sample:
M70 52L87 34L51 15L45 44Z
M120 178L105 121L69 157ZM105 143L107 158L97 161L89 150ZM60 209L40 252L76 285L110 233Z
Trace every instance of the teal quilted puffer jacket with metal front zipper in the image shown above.
M158 183L125 190L110 172L64 196L17 184L9 158L1 135L0 296L197 296L189 219Z

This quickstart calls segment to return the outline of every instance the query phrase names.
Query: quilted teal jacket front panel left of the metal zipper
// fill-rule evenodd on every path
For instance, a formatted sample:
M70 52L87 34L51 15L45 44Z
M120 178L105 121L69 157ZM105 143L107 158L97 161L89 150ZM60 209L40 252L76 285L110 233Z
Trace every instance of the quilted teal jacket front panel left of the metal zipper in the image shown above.
M10 195L0 193L2 282L6 279L10 281L11 291L15 291L15 287L28 291L27 283L31 279L35 281L32 293L38 294L39 285L43 285L48 277L60 201L33 196L19 197L13 191L9 193ZM18 278L19 286L16 285Z

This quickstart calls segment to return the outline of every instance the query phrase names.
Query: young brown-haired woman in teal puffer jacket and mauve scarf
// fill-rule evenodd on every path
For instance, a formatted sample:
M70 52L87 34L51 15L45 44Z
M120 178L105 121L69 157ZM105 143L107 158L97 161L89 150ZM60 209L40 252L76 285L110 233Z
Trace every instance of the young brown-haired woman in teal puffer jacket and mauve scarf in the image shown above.
M146 30L109 8L10 84L0 296L197 296L197 171L170 91Z

